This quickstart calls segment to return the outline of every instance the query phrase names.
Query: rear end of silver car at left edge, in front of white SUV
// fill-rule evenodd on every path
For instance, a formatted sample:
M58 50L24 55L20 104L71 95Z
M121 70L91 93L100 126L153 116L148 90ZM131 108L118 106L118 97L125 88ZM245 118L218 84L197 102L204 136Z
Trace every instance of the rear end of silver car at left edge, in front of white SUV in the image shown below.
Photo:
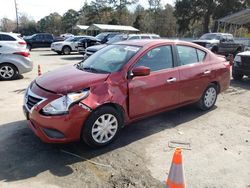
M0 80L16 79L18 75L30 72L33 62L30 53L8 44L0 45Z

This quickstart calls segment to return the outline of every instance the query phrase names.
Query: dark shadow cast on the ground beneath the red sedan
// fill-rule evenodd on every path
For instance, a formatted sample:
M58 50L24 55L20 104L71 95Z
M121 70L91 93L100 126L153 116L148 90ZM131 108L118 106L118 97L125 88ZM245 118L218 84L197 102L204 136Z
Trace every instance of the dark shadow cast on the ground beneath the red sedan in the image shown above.
M27 128L26 121L0 125L0 181L24 180L45 171L64 177L74 172L68 165L102 157L105 153L189 122L204 113L187 106L134 122L123 128L117 140L100 149L89 148L82 142L64 145L42 143ZM74 153L82 159L62 151Z

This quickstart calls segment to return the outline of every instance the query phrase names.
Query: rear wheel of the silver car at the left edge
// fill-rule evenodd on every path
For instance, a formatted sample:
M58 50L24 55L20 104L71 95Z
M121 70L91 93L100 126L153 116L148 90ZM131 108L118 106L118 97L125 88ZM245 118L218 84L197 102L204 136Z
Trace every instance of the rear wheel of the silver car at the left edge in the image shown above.
M14 65L10 63L0 64L0 80L14 80L18 75L18 70Z

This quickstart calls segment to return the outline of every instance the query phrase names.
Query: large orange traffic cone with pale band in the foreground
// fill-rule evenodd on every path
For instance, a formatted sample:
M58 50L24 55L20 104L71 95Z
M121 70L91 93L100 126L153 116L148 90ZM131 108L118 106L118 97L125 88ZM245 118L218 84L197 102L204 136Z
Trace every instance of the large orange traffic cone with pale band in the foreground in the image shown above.
M185 188L181 148L176 148L166 180L167 188Z

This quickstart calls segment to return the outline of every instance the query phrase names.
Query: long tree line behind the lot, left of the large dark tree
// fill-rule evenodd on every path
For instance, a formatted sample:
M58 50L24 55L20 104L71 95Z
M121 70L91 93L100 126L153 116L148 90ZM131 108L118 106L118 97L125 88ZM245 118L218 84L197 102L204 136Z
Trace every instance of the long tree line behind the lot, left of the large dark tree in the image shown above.
M68 10L62 16L54 12L43 17L37 23L26 15L20 17L20 32L30 35L37 32L48 32L54 35L62 33L76 34L75 25L91 25L93 23L113 25L133 25L141 33L156 33L161 36L175 36L176 19L171 5L161 6L161 0L148 0L149 8L137 5L135 10L129 11L128 6L138 0L92 0L85 2L80 10ZM2 27L14 31L14 21L3 20L7 23ZM93 33L92 33L93 34Z

